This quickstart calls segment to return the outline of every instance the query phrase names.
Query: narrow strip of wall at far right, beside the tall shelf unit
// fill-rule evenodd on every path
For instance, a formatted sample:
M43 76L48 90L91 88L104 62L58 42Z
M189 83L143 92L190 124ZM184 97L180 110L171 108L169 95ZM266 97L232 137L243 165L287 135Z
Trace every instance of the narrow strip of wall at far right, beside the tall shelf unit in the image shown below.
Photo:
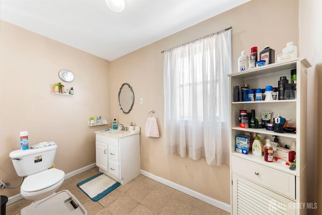
M307 201L317 202L317 210L309 210L309 214L322 214L322 2L318 0L299 1L299 41L300 55L305 56L312 67L308 69L308 139L307 139Z

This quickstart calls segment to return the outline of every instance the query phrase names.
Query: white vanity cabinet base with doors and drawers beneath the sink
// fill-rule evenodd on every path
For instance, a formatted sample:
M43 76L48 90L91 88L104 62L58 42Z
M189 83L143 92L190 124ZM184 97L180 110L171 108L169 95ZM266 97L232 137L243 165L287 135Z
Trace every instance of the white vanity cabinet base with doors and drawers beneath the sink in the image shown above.
M140 134L121 138L96 132L96 166L121 184L140 174Z

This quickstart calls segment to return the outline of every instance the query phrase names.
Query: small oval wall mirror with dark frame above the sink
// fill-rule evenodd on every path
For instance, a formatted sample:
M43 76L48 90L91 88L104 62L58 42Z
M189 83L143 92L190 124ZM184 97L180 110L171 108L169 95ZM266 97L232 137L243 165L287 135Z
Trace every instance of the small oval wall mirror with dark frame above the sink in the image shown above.
M132 87L124 83L122 84L118 95L119 107L123 113L129 113L134 104L134 92Z

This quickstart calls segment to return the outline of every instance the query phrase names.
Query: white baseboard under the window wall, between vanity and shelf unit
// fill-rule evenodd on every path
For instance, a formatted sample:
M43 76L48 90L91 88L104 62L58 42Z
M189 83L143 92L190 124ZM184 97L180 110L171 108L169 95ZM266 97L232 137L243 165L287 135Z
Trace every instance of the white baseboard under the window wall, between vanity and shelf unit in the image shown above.
M151 178L151 179L153 179L153 180L155 180L157 182L160 182L160 183L163 183L165 185L168 185L169 187L172 187L172 188L174 188L176 190L179 190L179 191L181 191L183 193L186 193L187 195L195 197L195 198L197 198L197 199L199 199L201 201L204 201L204 202L206 202L208 204L211 204L211 205L213 205L215 207L218 207L218 208L220 208L222 210L225 210L225 211L230 213L230 205L227 204L227 203L224 203L222 201L218 201L217 199L214 199L214 198L210 198L210 197L208 197L208 196L206 196L204 194L201 194L199 192L196 192L196 191L194 191L192 189L184 187L184 186L182 186L180 184L176 184L176 183L174 183L172 181L169 181L167 179L161 178L159 176L153 175L153 174L151 174L149 172L146 172L144 170L140 170L140 173L142 175L148 177L148 178Z

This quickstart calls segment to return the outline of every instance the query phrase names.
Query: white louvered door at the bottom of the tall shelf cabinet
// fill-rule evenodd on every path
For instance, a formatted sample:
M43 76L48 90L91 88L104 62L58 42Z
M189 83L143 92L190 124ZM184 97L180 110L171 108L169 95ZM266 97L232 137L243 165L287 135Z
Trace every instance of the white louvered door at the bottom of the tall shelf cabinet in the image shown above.
M296 214L295 202L232 174L231 214Z

